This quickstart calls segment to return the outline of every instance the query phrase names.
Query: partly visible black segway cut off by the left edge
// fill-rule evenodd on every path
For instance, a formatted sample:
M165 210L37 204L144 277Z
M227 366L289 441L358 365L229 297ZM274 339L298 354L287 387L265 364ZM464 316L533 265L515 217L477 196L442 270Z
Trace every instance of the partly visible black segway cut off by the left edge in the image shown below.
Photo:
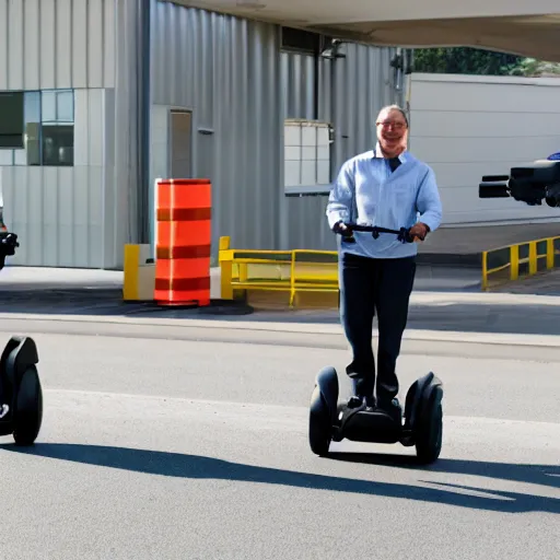
M33 338L12 337L0 358L0 435L32 445L43 422L43 390Z

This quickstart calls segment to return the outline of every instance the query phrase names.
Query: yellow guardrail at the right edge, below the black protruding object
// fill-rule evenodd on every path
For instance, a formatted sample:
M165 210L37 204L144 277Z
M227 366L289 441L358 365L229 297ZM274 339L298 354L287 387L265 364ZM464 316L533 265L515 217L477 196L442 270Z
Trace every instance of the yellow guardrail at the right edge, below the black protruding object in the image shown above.
M482 253L482 290L560 266L560 236L532 240Z

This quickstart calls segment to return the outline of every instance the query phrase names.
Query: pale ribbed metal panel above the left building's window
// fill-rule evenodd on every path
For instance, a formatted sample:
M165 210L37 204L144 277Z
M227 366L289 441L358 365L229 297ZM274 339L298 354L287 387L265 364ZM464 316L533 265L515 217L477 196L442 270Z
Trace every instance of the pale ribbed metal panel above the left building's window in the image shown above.
M0 0L0 90L114 82L114 0Z

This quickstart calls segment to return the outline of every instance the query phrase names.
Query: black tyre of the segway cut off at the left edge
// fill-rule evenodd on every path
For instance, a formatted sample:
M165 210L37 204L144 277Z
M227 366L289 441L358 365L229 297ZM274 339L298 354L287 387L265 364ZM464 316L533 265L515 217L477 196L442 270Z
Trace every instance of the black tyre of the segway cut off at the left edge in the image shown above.
M35 365L22 375L14 411L13 439L16 445L33 445L43 423L43 390Z

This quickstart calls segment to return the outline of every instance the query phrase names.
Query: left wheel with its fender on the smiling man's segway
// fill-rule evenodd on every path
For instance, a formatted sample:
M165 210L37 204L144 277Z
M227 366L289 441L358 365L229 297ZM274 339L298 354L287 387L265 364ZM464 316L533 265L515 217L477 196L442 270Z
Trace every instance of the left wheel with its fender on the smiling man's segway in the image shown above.
M317 375L310 406L310 446L318 456L327 455L332 439L332 421L338 399L338 377L334 368Z

